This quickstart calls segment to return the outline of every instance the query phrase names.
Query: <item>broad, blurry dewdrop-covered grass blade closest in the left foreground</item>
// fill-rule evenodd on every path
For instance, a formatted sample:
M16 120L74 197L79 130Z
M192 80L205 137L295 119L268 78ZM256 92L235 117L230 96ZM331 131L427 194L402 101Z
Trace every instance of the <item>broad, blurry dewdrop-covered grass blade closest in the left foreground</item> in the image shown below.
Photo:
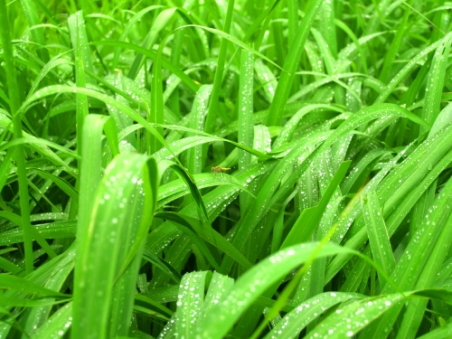
M113 284L143 218L145 194L141 176L145 165L144 155L117 156L108 165L94 195L89 224L78 237L71 333L74 338L108 338L109 333L116 336L118 328L130 321L130 296L135 294L139 254L129 272L129 283L120 285L126 303L122 309L115 300L118 291ZM122 326L118 327L119 323Z

